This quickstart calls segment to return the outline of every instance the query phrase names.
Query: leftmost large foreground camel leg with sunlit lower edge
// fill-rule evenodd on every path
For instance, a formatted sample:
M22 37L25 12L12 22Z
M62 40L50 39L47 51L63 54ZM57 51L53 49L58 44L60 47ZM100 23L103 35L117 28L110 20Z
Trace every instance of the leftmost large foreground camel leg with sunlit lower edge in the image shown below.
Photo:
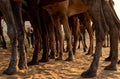
M18 53L17 53L17 46L16 46L16 42L17 42L16 25L15 25L14 15L12 13L12 8L9 0L0 0L0 10L8 25L7 27L8 36L10 38L10 43L12 47L10 63L8 68L3 72L3 74L12 75L18 71Z

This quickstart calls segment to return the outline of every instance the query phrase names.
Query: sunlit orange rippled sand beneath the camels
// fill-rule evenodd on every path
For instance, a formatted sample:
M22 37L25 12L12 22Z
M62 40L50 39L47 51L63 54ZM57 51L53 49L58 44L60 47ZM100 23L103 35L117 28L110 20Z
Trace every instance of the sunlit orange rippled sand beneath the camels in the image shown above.
M28 49L28 61L31 60L32 51ZM109 48L103 48L102 51L103 56L100 58L97 76L89 79L120 79L120 65L117 66L117 71L104 70L104 67L110 63L104 61L109 54ZM64 59L66 58L67 53L64 53ZM16 75L3 75L2 72L9 64L10 50L0 49L0 79L84 79L80 75L89 68L92 58L92 56L86 56L82 49L78 49L74 61L50 59L47 63L29 66L28 70L19 71Z

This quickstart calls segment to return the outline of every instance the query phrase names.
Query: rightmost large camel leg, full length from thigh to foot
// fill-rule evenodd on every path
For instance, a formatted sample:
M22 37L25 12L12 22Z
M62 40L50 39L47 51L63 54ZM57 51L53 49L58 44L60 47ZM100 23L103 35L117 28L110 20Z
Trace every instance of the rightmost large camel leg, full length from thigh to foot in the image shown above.
M113 7L111 7L108 1L102 1L103 12L106 18L106 22L110 29L110 53L111 53L111 64L105 67L105 70L116 70L116 64L118 60L118 24L119 19L116 17Z

